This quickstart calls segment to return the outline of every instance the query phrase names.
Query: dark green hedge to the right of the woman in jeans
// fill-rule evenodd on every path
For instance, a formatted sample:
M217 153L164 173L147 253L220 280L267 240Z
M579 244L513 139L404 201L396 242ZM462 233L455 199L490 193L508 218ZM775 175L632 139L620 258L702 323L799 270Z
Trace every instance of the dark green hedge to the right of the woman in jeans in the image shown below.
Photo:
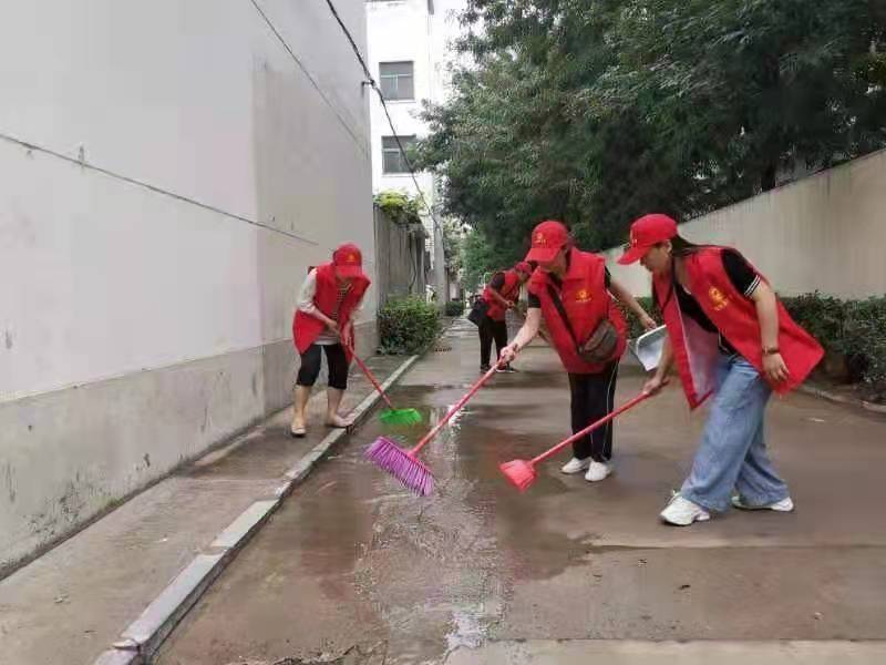
M782 298L794 320L831 354L845 358L848 378L886 391L886 296L841 300L821 294Z

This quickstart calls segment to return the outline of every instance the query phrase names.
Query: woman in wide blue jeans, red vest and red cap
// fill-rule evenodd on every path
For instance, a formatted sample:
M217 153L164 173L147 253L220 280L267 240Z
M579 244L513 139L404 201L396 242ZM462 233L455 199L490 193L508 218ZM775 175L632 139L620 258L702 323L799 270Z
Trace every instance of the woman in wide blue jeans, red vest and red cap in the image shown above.
M631 225L619 263L637 260L652 273L668 326L645 390L660 390L676 361L690 408L713 395L692 471L661 519L687 526L730 504L792 511L787 485L766 454L764 413L773 390L785 393L803 382L822 358L821 346L741 254L689 243L666 215Z

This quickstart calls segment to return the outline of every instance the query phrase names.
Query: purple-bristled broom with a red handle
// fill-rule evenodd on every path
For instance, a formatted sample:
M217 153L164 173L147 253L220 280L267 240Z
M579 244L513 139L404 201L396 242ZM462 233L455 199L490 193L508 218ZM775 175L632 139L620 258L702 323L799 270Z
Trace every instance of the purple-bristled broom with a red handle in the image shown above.
M422 448L427 446L434 437L440 433L446 423L452 419L455 413L462 410L477 390L488 381L498 369L501 360L493 366L490 371L483 375L480 380L471 387L462 399L452 407L446 415L427 432L424 438L419 441L410 450L403 450L394 441L387 437L379 437L367 450L367 458L375 462L379 467L388 471L391 475L396 478L406 488L421 497L426 497L434 491L434 475L424 463L418 459L418 454Z

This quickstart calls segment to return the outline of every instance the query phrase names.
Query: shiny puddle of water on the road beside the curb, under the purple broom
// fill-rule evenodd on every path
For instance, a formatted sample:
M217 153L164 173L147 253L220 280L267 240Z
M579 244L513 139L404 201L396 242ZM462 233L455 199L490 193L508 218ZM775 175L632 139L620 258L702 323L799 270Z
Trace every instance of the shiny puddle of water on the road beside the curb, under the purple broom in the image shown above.
M272 649L277 659L309 663L384 642L388 664L436 663L452 649L495 636L515 583L580 564L587 548L546 529L539 505L545 497L569 491L565 481L543 470L530 492L519 494L498 471L502 461L532 457L546 443L497 429L532 418L524 406L497 403L487 395L456 416L422 456L436 478L431 497L413 497L364 459L365 448L382 434L404 447L418 442L460 395L416 386L395 390L394 403L418 409L424 422L388 426L373 413L296 489L161 663L205 662L175 657L197 651L187 645L189 634L199 643L200 633L212 636L219 655L235 648L248 654L251 643ZM269 617L260 635L244 613ZM219 615L226 616L227 651L210 627Z

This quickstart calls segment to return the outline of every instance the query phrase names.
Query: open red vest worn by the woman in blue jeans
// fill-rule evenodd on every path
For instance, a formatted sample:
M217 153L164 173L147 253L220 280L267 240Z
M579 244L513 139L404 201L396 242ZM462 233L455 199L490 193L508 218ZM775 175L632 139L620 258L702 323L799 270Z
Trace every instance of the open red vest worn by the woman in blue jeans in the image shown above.
M763 375L763 344L756 306L732 284L723 268L724 247L705 247L688 255L683 262L689 276L689 290L701 309L725 337L727 341ZM752 266L753 267L753 266ZM760 273L754 268L754 272ZM760 275L761 279L765 279ZM664 324L673 346L677 369L690 408L700 406L713 392L715 366L720 357L718 336L680 313L677 296L671 293L671 275L656 276L656 296L664 304ZM779 301L779 348L790 378L772 386L786 393L800 386L824 356L821 345L787 314Z

